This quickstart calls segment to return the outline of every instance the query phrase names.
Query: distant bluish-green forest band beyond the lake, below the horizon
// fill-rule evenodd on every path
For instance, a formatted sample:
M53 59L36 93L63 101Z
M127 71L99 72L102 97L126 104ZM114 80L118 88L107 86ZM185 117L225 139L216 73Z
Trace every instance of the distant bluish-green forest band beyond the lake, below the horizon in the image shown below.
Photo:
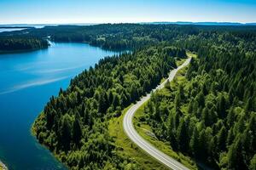
M1 36L50 37L54 42L89 42L106 49L137 49L170 42L173 45L197 51L206 45L225 46L237 43L242 48L251 48L256 42L255 26L180 26L102 24L95 26L45 26L41 29L26 29L2 32ZM246 41L244 41L246 40Z

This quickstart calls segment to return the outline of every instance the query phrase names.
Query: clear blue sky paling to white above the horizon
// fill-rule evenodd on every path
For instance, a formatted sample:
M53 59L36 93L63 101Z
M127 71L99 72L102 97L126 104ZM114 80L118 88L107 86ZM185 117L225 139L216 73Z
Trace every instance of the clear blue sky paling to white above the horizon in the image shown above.
M0 0L0 24L256 22L256 0Z

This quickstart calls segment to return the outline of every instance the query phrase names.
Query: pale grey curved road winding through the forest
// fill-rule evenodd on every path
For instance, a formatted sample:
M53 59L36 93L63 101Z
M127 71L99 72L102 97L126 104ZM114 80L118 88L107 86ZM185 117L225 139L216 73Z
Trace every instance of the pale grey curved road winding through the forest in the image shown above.
M154 88L153 92L156 89L164 88L167 80L171 82L175 77L177 71L182 69L184 66L189 65L190 60L191 58L187 59L183 63L183 65L180 65L177 67L177 69L172 70L170 73L170 76L166 79L166 81L162 82L158 87ZM137 144L141 149L145 150L150 156L153 156L156 160L166 165L166 167L170 167L171 169L175 169L175 170L189 169L188 167L184 167L183 164L181 164L180 162L174 160L172 157L167 156L165 153L156 149L152 144L149 144L148 141L143 139L133 127L132 117L134 116L137 109L141 105L143 105L143 103L145 103L149 98L150 98L150 94L147 94L140 101L138 101L136 105L132 105L132 107L126 112L124 121L123 121L123 127L125 129L125 133L131 139L131 141Z

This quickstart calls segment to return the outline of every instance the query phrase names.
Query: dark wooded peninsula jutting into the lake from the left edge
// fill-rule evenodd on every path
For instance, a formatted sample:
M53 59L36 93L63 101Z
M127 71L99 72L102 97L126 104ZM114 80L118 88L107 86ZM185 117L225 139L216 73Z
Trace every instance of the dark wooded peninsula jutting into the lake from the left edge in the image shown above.
M0 37L0 54L48 48L47 40L36 37Z

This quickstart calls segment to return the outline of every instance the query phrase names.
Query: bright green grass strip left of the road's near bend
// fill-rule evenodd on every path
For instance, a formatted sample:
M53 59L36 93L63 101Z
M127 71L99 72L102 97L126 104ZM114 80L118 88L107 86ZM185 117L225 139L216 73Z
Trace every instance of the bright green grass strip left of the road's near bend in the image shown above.
M148 156L146 152L141 150L126 136L123 129L123 118L130 107L131 106L125 108L125 110L122 111L121 116L113 117L109 121L108 131L110 136L114 138L115 145L118 147L117 154L119 156L129 158L131 161L139 165L138 167L134 165L134 167L129 167L129 169L168 169L164 165L160 164L160 162L154 160L153 157Z

